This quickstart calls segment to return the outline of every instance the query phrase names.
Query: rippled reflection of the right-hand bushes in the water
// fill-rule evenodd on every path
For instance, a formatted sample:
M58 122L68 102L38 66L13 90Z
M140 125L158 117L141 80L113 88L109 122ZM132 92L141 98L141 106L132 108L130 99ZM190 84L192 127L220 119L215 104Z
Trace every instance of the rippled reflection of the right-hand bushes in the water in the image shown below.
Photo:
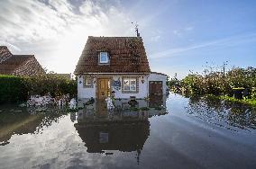
M220 127L256 129L256 111L249 106L224 102L214 97L191 97L187 113Z

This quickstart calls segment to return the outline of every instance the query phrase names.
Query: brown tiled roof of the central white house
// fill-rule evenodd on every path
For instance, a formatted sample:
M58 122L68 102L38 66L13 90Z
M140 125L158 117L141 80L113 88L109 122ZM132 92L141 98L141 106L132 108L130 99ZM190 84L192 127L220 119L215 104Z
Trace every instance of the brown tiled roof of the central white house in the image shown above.
M100 51L107 51L109 65L99 65ZM141 37L92 37L78 60L75 74L151 73Z

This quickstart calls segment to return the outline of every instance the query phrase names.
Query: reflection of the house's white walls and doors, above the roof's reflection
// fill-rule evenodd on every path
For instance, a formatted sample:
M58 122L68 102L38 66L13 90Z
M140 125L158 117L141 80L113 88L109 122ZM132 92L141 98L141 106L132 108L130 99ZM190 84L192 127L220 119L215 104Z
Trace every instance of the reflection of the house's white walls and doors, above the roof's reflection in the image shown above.
M131 106L129 99L114 100L114 114L106 109L105 101L96 100L86 105L87 99L78 101L78 107L85 107L78 111L78 120L142 120L156 115L168 113L165 95L152 95L149 100L137 99L137 104ZM135 108L135 111L134 111ZM146 111L141 109L148 108ZM142 113L143 112L143 113Z

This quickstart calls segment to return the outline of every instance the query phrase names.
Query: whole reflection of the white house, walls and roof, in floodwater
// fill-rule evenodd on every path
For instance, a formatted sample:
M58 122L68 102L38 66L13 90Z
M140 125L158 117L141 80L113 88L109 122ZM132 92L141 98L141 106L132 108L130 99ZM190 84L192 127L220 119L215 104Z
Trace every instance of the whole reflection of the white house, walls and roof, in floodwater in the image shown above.
M84 102L87 101L79 104L84 105ZM150 102L145 100L137 100L136 109L128 102L115 100L114 110L107 110L104 101L96 100L78 111L74 126L88 153L113 155L116 150L135 151L139 163L143 145L150 136L149 118L166 114L167 111L165 102L155 105L157 109L148 107Z

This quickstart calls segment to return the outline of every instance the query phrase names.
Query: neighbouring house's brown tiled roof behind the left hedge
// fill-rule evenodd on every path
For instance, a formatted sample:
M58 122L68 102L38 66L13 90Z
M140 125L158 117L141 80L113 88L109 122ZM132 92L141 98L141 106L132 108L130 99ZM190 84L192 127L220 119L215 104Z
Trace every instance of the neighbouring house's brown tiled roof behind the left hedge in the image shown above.
M0 46L0 75L33 76L44 70L33 55L13 55L5 46Z

